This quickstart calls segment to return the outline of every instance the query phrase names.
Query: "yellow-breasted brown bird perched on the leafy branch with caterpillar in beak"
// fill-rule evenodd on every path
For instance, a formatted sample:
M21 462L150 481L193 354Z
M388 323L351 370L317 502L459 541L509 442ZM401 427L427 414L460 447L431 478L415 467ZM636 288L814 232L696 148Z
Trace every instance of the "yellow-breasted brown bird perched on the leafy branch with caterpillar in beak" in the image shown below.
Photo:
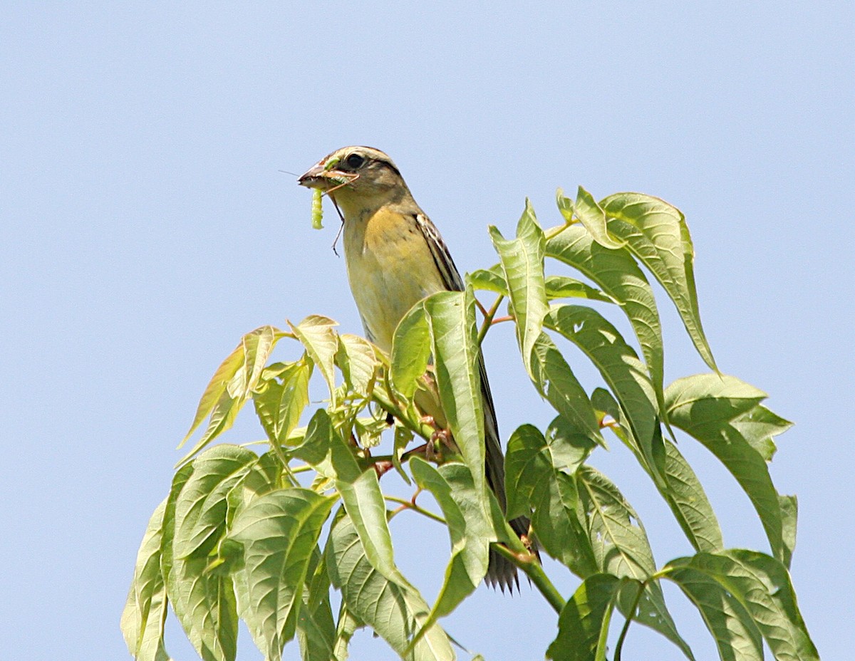
M345 265L351 292L367 338L391 355L398 322L422 298L436 292L462 292L463 278L445 241L428 215L416 204L398 166L372 147L335 150L315 163L298 184L327 192L344 222ZM485 476L504 511L504 455L498 436L496 410L479 351L484 409ZM439 403L418 401L422 410L445 427ZM529 522L510 522L516 534L528 536ZM519 589L516 566L490 549L485 581L504 592Z

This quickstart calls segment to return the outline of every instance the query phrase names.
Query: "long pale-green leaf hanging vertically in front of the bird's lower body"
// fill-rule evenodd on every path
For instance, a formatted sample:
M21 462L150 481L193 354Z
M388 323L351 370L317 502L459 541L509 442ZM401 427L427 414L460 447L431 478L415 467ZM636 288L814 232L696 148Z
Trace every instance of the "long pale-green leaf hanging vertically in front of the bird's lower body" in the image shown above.
M425 298L424 307L442 414L481 490L485 483L484 410L475 298L471 289L439 292Z

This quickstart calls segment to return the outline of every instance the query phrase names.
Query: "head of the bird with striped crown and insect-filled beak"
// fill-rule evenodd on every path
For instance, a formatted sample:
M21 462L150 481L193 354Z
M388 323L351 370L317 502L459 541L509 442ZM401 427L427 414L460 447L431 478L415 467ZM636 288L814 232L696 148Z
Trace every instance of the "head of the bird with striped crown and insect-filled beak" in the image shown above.
M327 191L345 218L410 198L410 190L392 159L371 147L333 151L300 177L298 184Z

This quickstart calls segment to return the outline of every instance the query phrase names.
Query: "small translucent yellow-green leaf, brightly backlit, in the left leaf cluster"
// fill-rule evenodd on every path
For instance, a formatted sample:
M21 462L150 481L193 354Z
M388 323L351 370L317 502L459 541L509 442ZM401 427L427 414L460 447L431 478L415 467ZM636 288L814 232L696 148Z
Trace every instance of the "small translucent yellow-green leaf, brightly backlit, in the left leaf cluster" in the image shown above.
M252 401L258 420L272 443L285 444L297 427L309 404L311 375L312 362L304 355L294 363L287 363L278 378L262 378L256 392L253 392Z

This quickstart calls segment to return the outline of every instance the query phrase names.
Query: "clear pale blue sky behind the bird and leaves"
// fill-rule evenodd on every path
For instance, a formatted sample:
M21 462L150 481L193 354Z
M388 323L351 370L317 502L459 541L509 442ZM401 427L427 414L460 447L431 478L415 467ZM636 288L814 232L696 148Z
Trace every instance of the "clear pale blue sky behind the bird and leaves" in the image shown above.
M557 222L557 186L683 210L719 366L797 422L772 464L779 490L799 495L793 580L821 655L846 658L853 18L845 2L7 3L4 655L125 658L136 549L215 366L242 333L286 318L359 331L333 212L312 231L309 192L280 170L363 144L395 159L462 270L495 261L486 226L511 233L527 196ZM703 371L664 300L661 311L666 381ZM549 417L520 387L509 331L486 345L505 438ZM258 434L247 415L229 440ZM657 562L687 554L613 445L594 463L640 512ZM765 549L734 481L692 441L681 449L728 546ZM398 519L398 560L430 596L445 540ZM714 658L697 614L667 597L696 656ZM487 659L540 658L555 634L528 587L512 599L480 588L446 624ZM171 622L168 649L194 658L182 639ZM681 658L640 627L627 645L625 658ZM246 636L239 658L260 658ZM352 658L392 655L359 634Z

